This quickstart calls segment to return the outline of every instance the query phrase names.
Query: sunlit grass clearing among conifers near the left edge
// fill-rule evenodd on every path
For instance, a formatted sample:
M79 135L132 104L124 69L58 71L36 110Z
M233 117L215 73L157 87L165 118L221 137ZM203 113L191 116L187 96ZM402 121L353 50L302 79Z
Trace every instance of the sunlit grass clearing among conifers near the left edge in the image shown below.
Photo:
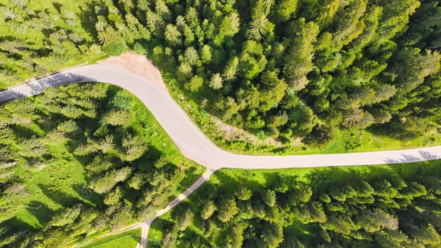
M32 166L25 159L18 163L16 176L23 179L29 196L16 218L35 229L45 227L53 213L73 202L94 205L84 197L85 169L65 145L48 145L53 159L40 166Z

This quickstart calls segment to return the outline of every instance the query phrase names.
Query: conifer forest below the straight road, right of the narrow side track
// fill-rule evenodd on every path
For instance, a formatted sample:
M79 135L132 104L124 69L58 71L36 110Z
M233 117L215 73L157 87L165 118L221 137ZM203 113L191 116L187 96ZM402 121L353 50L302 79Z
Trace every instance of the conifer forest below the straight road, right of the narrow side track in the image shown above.
M221 169L153 222L149 247L440 247L440 161Z

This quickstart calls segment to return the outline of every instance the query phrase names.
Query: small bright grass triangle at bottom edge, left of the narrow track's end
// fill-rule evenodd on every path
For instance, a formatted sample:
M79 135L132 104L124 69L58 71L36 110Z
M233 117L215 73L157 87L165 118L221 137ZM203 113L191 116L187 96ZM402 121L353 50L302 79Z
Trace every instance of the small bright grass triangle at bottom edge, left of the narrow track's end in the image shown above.
M135 248L136 244L141 242L141 230L131 230L128 232L123 232L119 235L114 235L101 239L92 244L87 244L84 248Z

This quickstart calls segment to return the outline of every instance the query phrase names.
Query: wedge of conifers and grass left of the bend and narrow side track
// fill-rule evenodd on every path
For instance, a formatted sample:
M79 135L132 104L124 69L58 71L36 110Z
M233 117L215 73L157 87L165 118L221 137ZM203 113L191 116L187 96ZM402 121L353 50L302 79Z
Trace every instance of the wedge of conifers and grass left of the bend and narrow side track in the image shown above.
M116 86L70 84L6 103L0 247L82 244L149 218L201 174Z

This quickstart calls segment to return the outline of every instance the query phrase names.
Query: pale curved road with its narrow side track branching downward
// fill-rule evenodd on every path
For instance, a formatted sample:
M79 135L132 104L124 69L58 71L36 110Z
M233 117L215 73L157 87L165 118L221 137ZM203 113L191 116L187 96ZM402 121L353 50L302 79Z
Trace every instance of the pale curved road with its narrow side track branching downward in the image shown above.
M18 98L40 94L48 86L60 86L72 82L100 81L115 84L130 91L140 98L145 106L155 115L165 132L185 157L207 167L207 171L167 208L157 211L157 215L139 223L143 230L142 247L147 241L150 224L157 216L166 213L191 192L196 190L214 171L220 168L240 169L282 169L302 167L325 167L344 165L396 164L441 159L441 146L411 150L382 152L359 152L345 154L311 154L293 156L252 156L225 152L216 147L203 135L189 119L167 91L161 89L149 79L121 67L106 64L91 64L67 69L42 79L35 79L27 84L13 86L0 92L0 103Z

